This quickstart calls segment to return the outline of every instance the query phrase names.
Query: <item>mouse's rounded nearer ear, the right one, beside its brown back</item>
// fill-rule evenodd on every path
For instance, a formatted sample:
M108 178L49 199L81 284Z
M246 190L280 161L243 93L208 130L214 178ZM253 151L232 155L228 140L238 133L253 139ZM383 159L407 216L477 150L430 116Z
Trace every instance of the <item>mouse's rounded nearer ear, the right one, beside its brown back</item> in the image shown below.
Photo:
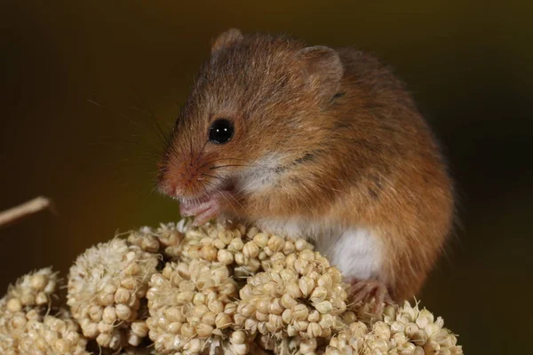
M331 99L338 91L344 69L338 52L324 46L307 47L298 51L303 62L301 75L324 99Z

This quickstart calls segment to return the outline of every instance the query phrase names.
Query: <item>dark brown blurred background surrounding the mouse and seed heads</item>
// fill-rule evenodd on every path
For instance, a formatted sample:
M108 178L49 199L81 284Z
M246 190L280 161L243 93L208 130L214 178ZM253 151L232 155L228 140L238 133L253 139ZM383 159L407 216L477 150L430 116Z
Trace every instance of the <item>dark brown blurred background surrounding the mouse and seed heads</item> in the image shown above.
M370 4L372 3L372 4ZM442 141L461 225L422 304L466 354L525 353L533 336L533 6L493 1L2 0L0 287L65 274L116 231L176 220L153 192L160 148L211 40L227 28L374 51Z

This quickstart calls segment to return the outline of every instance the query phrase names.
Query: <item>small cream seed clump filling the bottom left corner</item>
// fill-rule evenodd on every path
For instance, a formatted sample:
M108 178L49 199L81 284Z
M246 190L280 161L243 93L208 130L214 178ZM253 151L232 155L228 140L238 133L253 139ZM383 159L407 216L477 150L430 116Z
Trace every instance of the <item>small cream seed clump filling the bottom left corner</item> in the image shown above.
M57 285L57 272L45 268L10 286L0 301L0 353L88 354L77 323L52 304Z

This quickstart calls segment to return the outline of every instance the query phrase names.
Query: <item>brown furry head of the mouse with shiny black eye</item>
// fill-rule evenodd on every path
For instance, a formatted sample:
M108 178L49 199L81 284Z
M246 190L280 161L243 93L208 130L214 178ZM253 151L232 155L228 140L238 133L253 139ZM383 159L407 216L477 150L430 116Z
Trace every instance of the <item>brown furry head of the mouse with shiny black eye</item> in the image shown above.
M223 33L174 126L160 190L187 201L278 185L327 141L323 117L342 75L330 48L236 29Z

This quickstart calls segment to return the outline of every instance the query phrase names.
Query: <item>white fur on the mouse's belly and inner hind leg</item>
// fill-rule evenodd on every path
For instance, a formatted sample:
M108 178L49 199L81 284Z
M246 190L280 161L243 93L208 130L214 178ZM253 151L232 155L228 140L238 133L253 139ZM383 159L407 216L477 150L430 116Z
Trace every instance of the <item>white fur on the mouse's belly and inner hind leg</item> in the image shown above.
M364 228L345 231L324 231L322 225L300 221L261 220L261 229L291 238L311 236L316 249L337 266L346 279L377 277L382 263L383 250L378 237ZM313 238L313 236L315 236Z

